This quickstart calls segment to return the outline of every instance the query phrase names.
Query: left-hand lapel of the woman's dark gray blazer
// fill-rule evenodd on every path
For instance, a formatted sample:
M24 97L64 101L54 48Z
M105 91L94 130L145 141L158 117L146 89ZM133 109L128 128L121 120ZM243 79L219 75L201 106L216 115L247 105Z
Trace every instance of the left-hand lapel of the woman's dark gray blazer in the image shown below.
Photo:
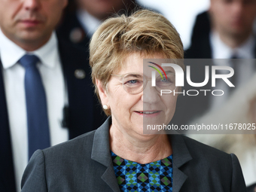
M111 160L109 148L109 126L111 125L111 117L96 130L93 139L93 149L91 158L102 165L106 166L102 175L102 180L108 184L114 192L120 192L117 184L117 178L114 174L114 166Z

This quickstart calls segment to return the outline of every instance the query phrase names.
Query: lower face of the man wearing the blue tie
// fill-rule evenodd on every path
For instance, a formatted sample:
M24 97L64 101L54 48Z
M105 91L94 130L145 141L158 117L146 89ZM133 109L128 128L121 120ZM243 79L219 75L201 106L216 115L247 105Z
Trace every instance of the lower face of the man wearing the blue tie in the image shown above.
M47 41L67 0L0 0L0 27L16 44Z

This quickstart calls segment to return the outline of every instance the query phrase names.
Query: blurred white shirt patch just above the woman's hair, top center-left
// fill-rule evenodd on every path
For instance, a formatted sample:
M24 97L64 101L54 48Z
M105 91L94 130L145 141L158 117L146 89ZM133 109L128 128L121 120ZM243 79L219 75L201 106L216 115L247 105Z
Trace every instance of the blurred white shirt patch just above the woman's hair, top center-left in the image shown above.
M81 25L83 26L84 31L90 37L93 36L93 33L102 23L101 20L98 20L96 17L93 17L91 14L84 10L78 10L77 17Z

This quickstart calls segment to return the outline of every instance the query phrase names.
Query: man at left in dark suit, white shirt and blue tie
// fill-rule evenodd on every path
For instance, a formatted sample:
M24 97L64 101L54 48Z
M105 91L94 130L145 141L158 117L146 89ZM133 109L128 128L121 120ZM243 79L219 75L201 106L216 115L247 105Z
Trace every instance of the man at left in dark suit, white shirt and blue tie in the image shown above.
M0 191L20 191L35 150L98 127L88 54L53 31L66 0L0 0Z

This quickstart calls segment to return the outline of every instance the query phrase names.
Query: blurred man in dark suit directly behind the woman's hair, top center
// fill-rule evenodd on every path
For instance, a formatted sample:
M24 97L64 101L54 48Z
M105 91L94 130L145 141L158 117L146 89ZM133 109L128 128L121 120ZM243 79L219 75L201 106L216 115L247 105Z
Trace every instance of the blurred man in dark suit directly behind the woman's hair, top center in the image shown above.
M57 33L87 50L90 38L104 20L112 14L130 15L140 7L136 0L72 0Z

